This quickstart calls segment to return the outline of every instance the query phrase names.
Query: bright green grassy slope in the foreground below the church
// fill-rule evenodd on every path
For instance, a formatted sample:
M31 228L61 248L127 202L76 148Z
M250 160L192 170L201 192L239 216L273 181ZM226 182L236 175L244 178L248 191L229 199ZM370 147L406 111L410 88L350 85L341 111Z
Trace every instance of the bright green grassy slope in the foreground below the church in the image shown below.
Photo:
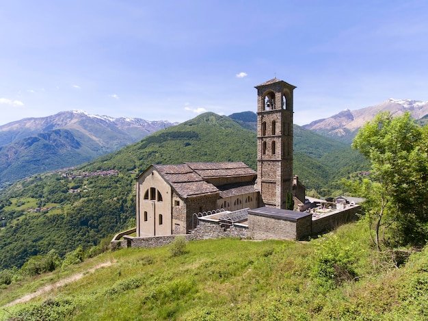
M73 272L101 261L116 263L7 310L26 320L426 320L428 248L405 267L384 269L362 231L353 223L310 242L189 242L179 257L171 257L167 247L105 253ZM334 237L358 251L358 281L327 289L311 267L320 259L317 248ZM45 274L0 290L0 305L57 281L61 273L67 274ZM0 310L0 320L10 316Z

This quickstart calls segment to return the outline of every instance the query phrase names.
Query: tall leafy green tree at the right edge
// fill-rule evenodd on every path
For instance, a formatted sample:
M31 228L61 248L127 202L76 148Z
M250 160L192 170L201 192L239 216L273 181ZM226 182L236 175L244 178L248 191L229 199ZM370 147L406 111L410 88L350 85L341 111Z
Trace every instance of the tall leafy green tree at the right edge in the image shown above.
M360 192L380 250L384 244L423 245L428 231L428 128L419 127L410 113L393 118L379 113L353 140L371 164ZM386 233L389 229L389 233ZM382 231L381 231L382 230Z

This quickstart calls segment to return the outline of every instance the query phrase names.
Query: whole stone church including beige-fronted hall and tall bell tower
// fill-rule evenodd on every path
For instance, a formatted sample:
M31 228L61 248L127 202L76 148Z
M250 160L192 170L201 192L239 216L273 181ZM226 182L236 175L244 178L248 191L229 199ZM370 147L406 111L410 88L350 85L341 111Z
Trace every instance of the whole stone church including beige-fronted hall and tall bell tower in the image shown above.
M136 181L137 237L189 233L195 214L304 203L293 177L293 90L273 78L257 90L257 172L243 162L151 165Z

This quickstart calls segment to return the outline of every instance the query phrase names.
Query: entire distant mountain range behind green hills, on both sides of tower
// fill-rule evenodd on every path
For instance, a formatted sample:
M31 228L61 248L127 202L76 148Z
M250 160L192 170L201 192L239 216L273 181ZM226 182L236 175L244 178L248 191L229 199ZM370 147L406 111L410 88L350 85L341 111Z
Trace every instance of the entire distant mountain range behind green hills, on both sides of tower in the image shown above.
M409 111L420 123L428 121L428 101L388 99L359 110L343 110L303 127L350 144L358 129L380 111L394 116ZM254 112L231 114L229 118L245 129L256 131ZM83 164L177 124L163 120L112 118L73 110L2 125L0 185L29 175ZM302 131L302 127L297 131Z

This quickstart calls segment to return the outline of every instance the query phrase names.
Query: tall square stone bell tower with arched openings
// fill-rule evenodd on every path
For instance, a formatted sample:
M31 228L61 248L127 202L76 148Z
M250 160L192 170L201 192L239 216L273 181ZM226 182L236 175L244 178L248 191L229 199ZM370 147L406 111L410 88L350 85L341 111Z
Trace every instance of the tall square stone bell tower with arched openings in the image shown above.
M293 85L273 78L257 89L257 182L260 206L286 209L293 193Z

